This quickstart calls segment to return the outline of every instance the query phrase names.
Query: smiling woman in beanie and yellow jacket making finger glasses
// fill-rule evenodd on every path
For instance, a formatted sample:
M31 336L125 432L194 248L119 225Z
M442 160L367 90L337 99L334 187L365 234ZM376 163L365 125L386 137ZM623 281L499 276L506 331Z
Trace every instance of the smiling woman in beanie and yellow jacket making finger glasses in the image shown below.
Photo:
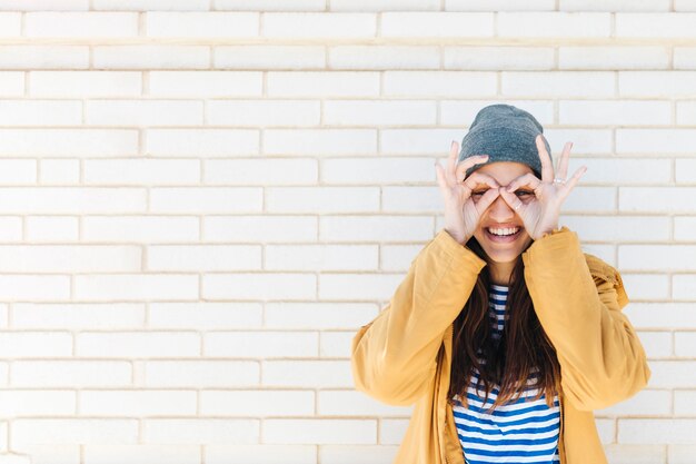
M570 147L554 176L539 122L493 105L436 162L445 227L352 340L357 388L415 404L397 464L606 463L593 409L650 371L618 272L558 227Z

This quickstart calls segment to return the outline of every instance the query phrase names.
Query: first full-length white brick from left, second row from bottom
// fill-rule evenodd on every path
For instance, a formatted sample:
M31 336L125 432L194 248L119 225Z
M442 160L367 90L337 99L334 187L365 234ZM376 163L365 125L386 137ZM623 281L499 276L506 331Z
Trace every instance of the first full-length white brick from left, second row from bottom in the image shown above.
M138 421L113 418L32 418L12 422L12 445L137 443Z

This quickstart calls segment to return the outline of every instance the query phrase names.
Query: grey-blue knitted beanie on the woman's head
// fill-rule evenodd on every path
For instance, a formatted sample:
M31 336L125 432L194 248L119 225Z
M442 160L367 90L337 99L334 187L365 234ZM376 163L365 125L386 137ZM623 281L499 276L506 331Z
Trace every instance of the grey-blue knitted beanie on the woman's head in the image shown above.
M469 168L469 176L484 165L515 161L527 165L541 178L541 160L535 138L544 128L534 116L511 105L490 105L478 111L469 131L461 140L458 161L473 155L488 155L488 161ZM544 138L549 156L551 148Z

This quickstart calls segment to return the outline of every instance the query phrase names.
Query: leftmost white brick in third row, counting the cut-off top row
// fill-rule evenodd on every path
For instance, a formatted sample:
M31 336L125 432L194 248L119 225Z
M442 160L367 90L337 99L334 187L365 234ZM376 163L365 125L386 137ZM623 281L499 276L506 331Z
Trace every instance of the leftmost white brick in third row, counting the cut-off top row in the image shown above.
M87 68L89 68L89 47L26 45L0 47L0 69Z

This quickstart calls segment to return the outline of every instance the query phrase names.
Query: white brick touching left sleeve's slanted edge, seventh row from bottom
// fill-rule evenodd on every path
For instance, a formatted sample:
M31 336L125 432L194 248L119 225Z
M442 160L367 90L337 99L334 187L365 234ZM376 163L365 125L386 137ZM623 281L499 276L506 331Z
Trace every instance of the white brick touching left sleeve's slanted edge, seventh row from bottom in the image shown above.
M321 274L321 299L389 299L404 276L392 274ZM356 297L355 288L360 288Z

